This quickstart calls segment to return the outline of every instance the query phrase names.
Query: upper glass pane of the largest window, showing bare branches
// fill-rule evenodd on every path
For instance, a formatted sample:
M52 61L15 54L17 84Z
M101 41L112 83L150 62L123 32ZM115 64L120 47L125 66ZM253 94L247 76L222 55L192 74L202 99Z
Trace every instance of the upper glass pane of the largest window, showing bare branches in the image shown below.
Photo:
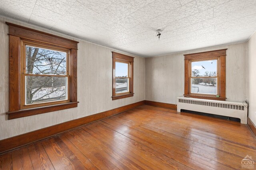
M66 52L26 45L26 73L66 75Z

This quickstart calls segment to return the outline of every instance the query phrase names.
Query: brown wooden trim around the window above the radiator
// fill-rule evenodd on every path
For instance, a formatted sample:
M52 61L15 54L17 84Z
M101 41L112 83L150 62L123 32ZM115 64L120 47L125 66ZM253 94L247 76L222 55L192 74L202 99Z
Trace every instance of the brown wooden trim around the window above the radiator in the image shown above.
M185 84L184 84L184 96L208 100L226 100L226 50L220 49L214 51L206 51L202 53L193 53L184 55L184 67L185 67ZM204 59L218 59L218 95L204 95L204 94L191 94L190 93L190 62L195 60Z

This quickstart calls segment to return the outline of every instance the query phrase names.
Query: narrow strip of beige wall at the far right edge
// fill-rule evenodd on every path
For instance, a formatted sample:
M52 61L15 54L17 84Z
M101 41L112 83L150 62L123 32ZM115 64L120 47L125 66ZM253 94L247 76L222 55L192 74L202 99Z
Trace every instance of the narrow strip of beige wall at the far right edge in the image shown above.
M256 33L247 41L247 98L249 117L256 125Z

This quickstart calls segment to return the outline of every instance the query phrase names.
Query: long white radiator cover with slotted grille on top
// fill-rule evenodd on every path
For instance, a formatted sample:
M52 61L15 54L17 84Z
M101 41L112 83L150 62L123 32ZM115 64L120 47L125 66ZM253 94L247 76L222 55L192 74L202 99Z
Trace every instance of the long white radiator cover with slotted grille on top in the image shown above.
M178 97L177 111L180 109L199 111L215 115L236 117L241 123L247 124L247 104L242 102L227 102L197 98ZM245 107L246 106L246 107Z

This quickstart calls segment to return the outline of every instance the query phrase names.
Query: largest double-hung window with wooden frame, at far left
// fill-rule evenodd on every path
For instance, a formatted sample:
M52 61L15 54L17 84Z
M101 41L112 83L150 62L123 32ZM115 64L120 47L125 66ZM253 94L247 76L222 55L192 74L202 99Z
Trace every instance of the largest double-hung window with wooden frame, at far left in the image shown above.
M9 119L77 107L78 42L9 26Z

